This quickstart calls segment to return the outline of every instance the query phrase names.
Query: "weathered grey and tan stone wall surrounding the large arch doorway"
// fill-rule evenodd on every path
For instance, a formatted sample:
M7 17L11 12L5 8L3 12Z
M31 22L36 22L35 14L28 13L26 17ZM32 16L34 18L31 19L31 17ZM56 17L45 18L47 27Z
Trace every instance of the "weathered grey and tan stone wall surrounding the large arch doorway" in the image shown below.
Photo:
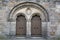
M42 5L49 14L49 22L47 22L48 37L57 37L60 35L60 11L54 1L36 1L36 0L0 0L0 34L9 35L9 22L7 22L11 9L21 2L35 2ZM44 24L44 23L43 23Z

